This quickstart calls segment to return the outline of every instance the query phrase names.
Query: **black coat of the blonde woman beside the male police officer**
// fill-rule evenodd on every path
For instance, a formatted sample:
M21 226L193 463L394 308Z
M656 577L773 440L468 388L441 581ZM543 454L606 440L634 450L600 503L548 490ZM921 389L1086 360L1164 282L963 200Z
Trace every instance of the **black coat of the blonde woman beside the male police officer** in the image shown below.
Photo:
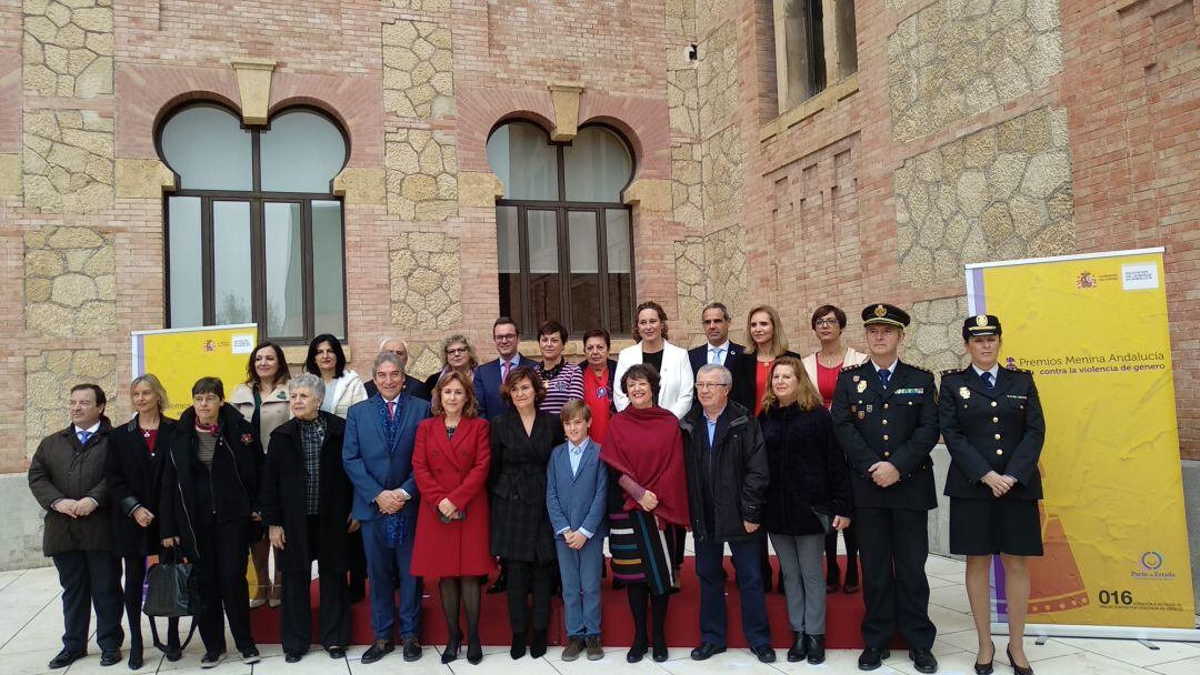
M822 405L802 410L792 404L758 415L767 442L770 484L763 525L776 535L820 535L824 528L814 511L830 519L851 517L850 471L833 436L833 421Z

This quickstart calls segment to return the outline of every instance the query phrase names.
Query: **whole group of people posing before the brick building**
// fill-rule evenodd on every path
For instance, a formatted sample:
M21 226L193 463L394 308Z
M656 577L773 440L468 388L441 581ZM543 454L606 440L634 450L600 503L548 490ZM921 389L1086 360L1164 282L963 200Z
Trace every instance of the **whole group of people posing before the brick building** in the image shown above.
M924 565L937 504L930 452L942 438L952 456L950 550L967 558L979 635L976 671L992 671L988 568L1001 555L1009 662L1032 673L1020 638L1025 561L1042 554L1045 432L1032 375L998 367L998 318L971 317L962 327L971 364L943 373L938 397L931 373L898 357L908 315L878 303L862 318L866 352L844 344L845 312L820 307L811 329L821 348L802 357L774 308L749 312L743 346L730 342L728 311L714 302L701 317L706 344L684 350L668 342L662 307L643 302L634 345L612 360L608 333L590 330L575 364L558 323L539 327L535 360L520 354L520 329L502 317L496 360L480 364L464 336L450 336L443 368L424 382L408 375L400 339L380 345L368 381L348 368L334 336L312 340L295 378L283 350L264 343L232 397L220 379L202 378L178 421L163 415L160 381L137 378L136 415L120 427L103 415L103 390L78 385L71 424L42 441L29 470L64 587L64 649L50 667L86 653L89 603L101 663L121 659L124 566L128 664L139 668L146 556L175 550L198 573L205 668L226 658L226 620L244 662L259 658L250 609L262 604L282 605L286 659L299 661L312 635L313 561L318 634L334 658L350 639L349 605L367 587L374 640L362 662L397 644L406 661L420 658L422 583L438 579L449 633L442 661L466 644L468 662L479 663L482 589L499 563L493 589L506 593L512 658L545 653L556 592L569 635L563 659L602 658L600 587L611 569L635 628L626 659L650 652L661 662L690 530L701 598L692 658L726 649L728 547L743 632L760 661L775 659L769 540L794 637L790 662L824 661L826 595L858 590L860 558L859 668L878 668L899 629L916 669L934 673ZM166 649L180 658L174 623Z

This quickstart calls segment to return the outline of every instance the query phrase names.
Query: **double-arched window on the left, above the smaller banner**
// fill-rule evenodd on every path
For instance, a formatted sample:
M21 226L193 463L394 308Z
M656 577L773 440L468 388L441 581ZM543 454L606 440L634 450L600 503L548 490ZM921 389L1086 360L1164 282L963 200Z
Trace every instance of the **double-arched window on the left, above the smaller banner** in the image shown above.
M167 323L250 324L265 339L346 336L342 201L349 156L322 113L290 108L244 128L211 103L176 110L158 149L179 175L167 197Z

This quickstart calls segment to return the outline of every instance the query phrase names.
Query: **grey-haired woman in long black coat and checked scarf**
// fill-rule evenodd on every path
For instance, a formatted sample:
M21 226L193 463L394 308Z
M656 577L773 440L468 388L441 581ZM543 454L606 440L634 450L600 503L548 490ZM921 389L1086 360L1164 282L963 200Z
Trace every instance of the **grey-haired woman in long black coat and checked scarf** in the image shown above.
M280 621L284 659L300 661L312 641L312 561L320 569L320 644L332 658L350 641L347 535L350 480L342 466L346 421L320 409L325 382L304 374L288 382L292 420L271 432L263 477L263 522L283 572Z

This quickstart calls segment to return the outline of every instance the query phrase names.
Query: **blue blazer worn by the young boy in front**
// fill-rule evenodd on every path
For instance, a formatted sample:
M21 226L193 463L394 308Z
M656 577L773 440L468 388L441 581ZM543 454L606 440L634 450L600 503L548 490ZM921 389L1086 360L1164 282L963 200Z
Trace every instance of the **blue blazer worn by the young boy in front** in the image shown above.
M580 472L574 476L570 441L554 448L546 464L546 510L556 538L564 528L587 530L592 540L604 538L607 498L608 470L600 462L600 444L588 439Z

